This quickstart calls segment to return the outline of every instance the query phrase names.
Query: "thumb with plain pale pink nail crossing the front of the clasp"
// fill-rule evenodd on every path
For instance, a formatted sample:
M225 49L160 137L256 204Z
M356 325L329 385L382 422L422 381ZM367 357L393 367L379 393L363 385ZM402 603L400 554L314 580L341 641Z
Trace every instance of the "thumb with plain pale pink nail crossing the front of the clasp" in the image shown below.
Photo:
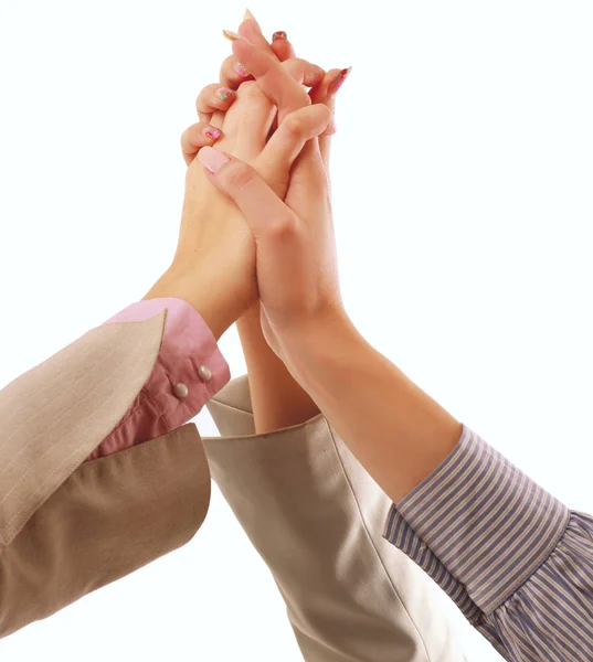
M271 229L293 226L297 218L251 167L213 148L200 150L198 159L210 181L239 207L256 241Z

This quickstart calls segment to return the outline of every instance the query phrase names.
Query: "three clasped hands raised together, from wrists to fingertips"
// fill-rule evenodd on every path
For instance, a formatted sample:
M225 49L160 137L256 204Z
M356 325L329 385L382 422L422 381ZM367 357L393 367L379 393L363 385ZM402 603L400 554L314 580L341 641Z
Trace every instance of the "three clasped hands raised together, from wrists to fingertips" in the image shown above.
M201 121L181 140L177 252L146 298L187 300L216 339L260 301L265 339L286 359L295 334L343 316L329 151L348 71L296 58L283 33L268 44L253 17L226 36L222 85L202 90Z

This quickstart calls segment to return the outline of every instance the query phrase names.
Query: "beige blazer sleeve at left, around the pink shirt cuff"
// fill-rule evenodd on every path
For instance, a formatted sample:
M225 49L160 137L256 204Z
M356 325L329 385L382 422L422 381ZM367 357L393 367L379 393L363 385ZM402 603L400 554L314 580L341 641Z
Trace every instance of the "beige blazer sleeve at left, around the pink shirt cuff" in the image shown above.
M195 425L84 461L150 376L166 319L93 329L0 392L0 637L200 527L210 473Z

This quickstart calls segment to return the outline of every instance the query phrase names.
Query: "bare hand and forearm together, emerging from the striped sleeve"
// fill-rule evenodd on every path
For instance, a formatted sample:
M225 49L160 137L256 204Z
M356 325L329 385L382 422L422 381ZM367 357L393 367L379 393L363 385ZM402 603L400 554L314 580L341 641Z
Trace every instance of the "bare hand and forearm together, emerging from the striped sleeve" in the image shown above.
M240 40L233 52L271 99L287 104L279 79L268 85L279 76L278 65L263 49ZM293 92L292 108L299 103ZM462 424L348 318L339 295L329 182L318 159L311 140L292 168L284 197L235 158L208 177L243 213L255 238L266 342L398 503L451 453Z

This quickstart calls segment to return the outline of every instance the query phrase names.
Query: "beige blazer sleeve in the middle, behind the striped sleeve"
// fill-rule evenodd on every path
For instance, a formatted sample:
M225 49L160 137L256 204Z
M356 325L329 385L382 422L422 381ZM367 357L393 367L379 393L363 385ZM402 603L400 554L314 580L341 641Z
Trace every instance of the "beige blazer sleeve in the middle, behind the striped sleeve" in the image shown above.
M307 662L460 662L431 581L382 537L391 501L319 415L254 435L248 382L208 404L213 479L269 567Z

